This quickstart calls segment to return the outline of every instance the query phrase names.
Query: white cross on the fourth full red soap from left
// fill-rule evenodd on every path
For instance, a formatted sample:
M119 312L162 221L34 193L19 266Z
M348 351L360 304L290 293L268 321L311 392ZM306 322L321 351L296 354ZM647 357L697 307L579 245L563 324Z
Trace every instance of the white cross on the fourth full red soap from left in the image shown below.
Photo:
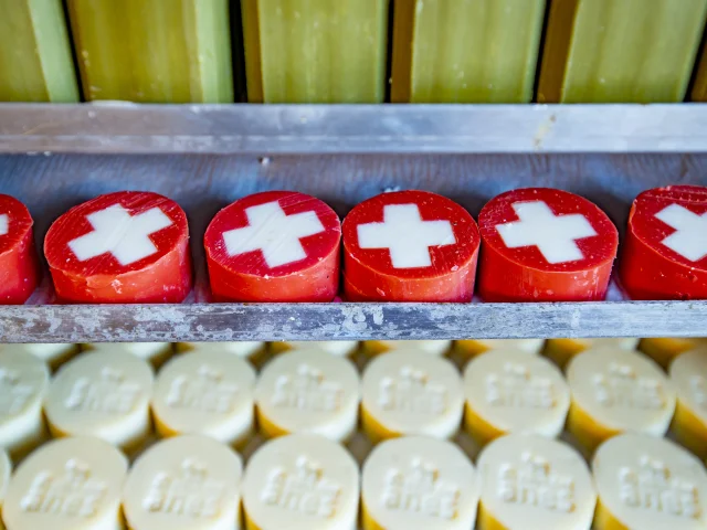
M508 248L537 246L552 265L583 259L576 241L597 235L584 215L555 215L544 201L516 202L513 209L519 221L497 224L500 239Z

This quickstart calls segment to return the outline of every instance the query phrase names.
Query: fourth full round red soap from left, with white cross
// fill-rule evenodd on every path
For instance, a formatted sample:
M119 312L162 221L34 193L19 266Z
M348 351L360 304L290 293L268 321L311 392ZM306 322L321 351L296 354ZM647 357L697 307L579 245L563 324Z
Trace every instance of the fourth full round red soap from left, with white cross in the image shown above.
M485 301L601 300L619 233L595 204L550 188L492 199L478 215Z

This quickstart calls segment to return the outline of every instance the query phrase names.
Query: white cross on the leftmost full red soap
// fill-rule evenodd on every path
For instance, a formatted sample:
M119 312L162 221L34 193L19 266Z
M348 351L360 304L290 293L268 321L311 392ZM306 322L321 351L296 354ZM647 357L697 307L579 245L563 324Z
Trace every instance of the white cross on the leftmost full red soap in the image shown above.
M172 225L172 220L159 208L130 215L120 204L91 213L86 219L94 231L68 242L78 261L110 253L123 266L155 254L157 247L149 236Z

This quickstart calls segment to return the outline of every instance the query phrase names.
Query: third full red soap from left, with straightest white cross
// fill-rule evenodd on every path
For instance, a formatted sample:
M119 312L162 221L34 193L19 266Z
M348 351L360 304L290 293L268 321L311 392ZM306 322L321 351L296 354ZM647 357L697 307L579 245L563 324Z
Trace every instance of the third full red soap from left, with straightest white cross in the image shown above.
M349 299L471 301L479 236L461 205L426 191L373 197L344 220Z

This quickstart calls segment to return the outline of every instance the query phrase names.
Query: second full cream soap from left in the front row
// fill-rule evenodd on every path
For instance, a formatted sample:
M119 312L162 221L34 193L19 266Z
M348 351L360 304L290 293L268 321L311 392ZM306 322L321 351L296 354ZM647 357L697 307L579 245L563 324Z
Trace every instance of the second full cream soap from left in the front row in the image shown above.
M130 530L236 530L241 457L197 435L157 443L135 460L123 488Z

